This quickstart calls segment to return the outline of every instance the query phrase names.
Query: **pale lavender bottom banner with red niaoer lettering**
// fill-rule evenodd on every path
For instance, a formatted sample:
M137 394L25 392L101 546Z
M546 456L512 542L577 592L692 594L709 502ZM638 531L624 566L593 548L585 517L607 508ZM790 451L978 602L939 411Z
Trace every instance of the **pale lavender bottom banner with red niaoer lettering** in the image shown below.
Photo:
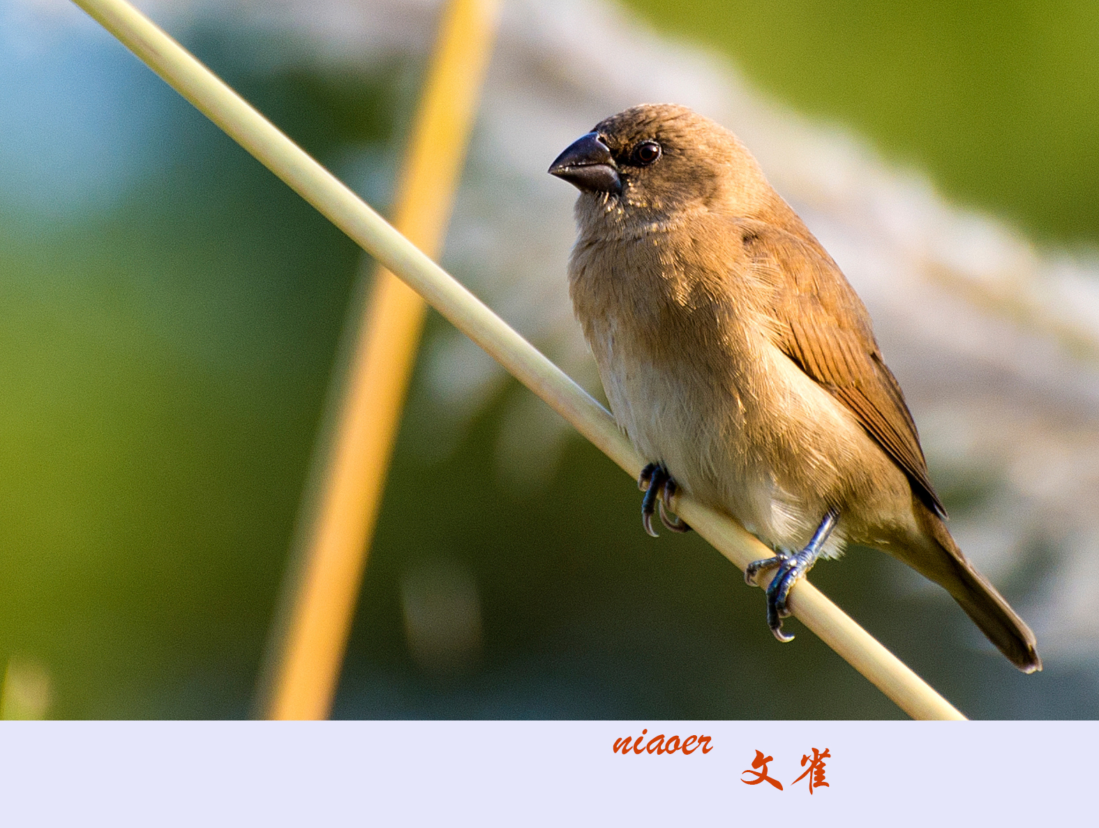
M3 722L2 824L1092 824L1097 736L1026 721Z

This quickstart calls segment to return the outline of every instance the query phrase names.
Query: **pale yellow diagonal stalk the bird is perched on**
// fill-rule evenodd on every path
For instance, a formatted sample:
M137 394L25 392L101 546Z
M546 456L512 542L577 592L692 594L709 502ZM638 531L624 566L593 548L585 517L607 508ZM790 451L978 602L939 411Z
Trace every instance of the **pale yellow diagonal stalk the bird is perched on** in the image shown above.
M74 0L233 140L484 347L631 476L643 465L608 412L457 280L124 0ZM681 497L676 510L743 568L770 551L726 515ZM791 609L918 719L964 718L946 699L802 579Z

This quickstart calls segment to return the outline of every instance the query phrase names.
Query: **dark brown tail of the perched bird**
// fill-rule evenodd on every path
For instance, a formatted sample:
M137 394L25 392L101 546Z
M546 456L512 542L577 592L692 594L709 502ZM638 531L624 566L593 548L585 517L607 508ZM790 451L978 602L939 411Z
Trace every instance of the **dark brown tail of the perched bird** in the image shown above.
M920 554L904 554L904 562L943 586L1012 664L1024 673L1041 670L1042 659L1030 627L966 560L940 517L922 503L915 505L915 511L923 525L924 544Z

